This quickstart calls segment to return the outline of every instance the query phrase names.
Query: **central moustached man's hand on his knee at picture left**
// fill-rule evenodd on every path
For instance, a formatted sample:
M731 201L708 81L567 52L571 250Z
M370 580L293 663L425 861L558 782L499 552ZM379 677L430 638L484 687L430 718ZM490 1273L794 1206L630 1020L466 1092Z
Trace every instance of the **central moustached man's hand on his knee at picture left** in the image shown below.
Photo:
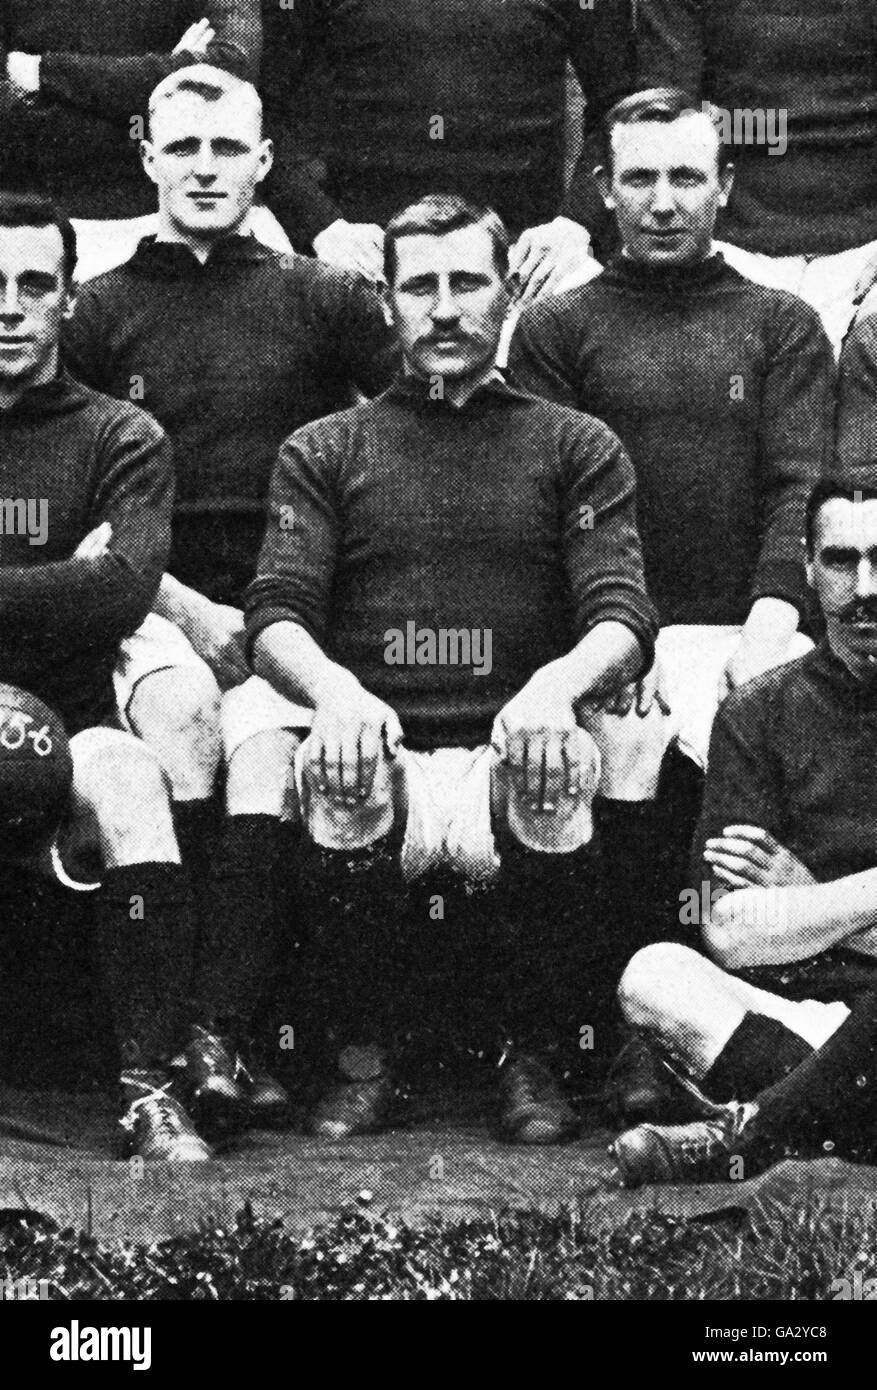
M395 709L353 677L322 699L306 744L306 776L313 788L345 805L370 794L382 752L399 751L402 724Z

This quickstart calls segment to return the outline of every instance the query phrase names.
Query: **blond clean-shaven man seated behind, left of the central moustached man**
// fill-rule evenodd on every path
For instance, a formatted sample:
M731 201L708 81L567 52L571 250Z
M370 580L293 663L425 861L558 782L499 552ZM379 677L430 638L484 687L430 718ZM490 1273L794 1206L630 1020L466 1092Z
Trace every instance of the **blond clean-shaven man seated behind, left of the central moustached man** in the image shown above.
M286 769L302 723L245 664L243 592L281 442L347 404L354 384L384 385L389 334L368 286L243 235L271 165L250 83L206 64L165 78L143 161L158 232L82 289L65 354L92 386L133 395L174 443L171 557L153 612L122 644L115 684L125 723L171 780L199 884L202 958L220 1022L238 1020L221 1031L236 1034L271 972L278 874L289 877L295 856L281 823ZM231 1087L239 1044L228 1041ZM222 1049L213 1054L215 1068Z

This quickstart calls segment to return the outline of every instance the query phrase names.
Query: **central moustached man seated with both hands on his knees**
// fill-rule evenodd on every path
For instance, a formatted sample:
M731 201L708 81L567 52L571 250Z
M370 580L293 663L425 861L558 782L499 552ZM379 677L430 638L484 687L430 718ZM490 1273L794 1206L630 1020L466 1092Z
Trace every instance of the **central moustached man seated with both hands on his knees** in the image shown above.
M502 1127L523 1143L574 1130L545 1056L573 1030L575 1048L573 1020L591 1022L578 1011L617 951L595 897L600 756L577 710L652 659L634 482L605 425L496 371L507 254L499 217L460 197L389 222L404 374L286 441L249 592L254 669L313 708L296 787L322 902L338 905L318 947L349 1044L311 1120L325 1137L388 1116L377 1044L403 880L445 866L499 883L470 970L484 1027L517 1044ZM396 972L395 990L411 988Z

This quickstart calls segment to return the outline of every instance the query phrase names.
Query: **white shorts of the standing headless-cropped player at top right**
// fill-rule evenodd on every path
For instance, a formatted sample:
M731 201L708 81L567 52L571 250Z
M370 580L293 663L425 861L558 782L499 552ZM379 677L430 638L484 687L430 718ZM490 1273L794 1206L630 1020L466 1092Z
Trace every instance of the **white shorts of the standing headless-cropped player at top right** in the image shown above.
M770 289L785 289L806 300L821 318L835 357L839 356L841 343L859 307L856 282L877 256L877 242L852 246L834 256L764 256L731 246L730 242L714 245L728 265L746 279Z

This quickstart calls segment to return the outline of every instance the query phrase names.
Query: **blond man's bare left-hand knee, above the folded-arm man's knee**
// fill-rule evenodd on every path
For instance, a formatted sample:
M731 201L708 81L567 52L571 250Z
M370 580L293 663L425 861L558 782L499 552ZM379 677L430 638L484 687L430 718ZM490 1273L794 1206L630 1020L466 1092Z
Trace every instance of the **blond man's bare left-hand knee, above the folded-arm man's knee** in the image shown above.
M206 662L153 671L133 692L131 724L160 753L181 801L213 790L222 756L220 698Z

